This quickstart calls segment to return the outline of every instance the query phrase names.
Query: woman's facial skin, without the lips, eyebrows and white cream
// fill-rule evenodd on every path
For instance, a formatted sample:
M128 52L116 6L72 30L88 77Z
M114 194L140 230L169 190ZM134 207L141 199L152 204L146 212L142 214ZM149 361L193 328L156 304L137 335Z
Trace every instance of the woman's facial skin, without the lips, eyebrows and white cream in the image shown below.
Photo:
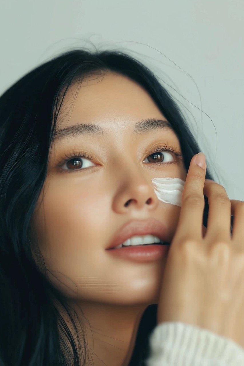
M77 123L106 130L55 141L33 216L50 280L70 299L120 305L157 301L166 257L136 263L106 250L114 233L133 219L162 221L170 238L177 227L180 207L159 201L151 179L185 180L187 172L173 153L162 152L158 164L150 158L164 143L181 152L173 131L133 135L138 122L151 118L166 120L141 86L112 72L85 78L64 98L58 130ZM70 157L58 166L65 154L78 152L91 158L80 158L75 166Z

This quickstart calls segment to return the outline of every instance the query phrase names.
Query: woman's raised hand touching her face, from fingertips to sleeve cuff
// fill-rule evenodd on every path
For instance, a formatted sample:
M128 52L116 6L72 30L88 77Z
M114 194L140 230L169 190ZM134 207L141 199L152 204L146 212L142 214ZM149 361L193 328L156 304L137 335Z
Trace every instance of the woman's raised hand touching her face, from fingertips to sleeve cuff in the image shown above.
M157 324L184 322L244 347L244 202L229 200L225 188L205 176L206 168L193 156L164 268ZM203 194L209 205L204 238Z

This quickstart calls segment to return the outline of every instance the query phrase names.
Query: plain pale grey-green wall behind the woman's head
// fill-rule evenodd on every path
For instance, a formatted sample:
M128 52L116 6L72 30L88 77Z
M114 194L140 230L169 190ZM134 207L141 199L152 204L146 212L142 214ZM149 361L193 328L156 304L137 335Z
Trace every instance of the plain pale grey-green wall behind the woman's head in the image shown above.
M244 201L244 0L1 0L0 93L75 47L120 49L176 98L230 199ZM202 110L202 112L201 112ZM217 141L218 138L218 141Z

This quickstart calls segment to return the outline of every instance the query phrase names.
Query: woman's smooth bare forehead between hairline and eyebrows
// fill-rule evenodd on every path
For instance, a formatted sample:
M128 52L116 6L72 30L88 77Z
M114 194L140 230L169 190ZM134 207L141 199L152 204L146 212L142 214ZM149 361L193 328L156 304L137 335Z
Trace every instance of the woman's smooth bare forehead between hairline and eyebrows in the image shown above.
M124 127L145 118L165 119L154 100L136 82L115 72L86 76L64 97L57 129L75 123Z

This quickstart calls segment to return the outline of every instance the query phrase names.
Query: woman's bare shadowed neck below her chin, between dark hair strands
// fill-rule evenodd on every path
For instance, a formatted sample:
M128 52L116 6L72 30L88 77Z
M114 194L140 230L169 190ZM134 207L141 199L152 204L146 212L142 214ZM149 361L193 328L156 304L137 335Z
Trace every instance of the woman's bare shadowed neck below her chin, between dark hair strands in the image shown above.
M149 304L123 306L82 301L70 305L77 312L78 326L84 329L87 355L85 366L91 361L94 366L128 366L141 317ZM62 315L70 328L67 315ZM70 331L74 336L74 332ZM79 342L84 350L82 333Z

